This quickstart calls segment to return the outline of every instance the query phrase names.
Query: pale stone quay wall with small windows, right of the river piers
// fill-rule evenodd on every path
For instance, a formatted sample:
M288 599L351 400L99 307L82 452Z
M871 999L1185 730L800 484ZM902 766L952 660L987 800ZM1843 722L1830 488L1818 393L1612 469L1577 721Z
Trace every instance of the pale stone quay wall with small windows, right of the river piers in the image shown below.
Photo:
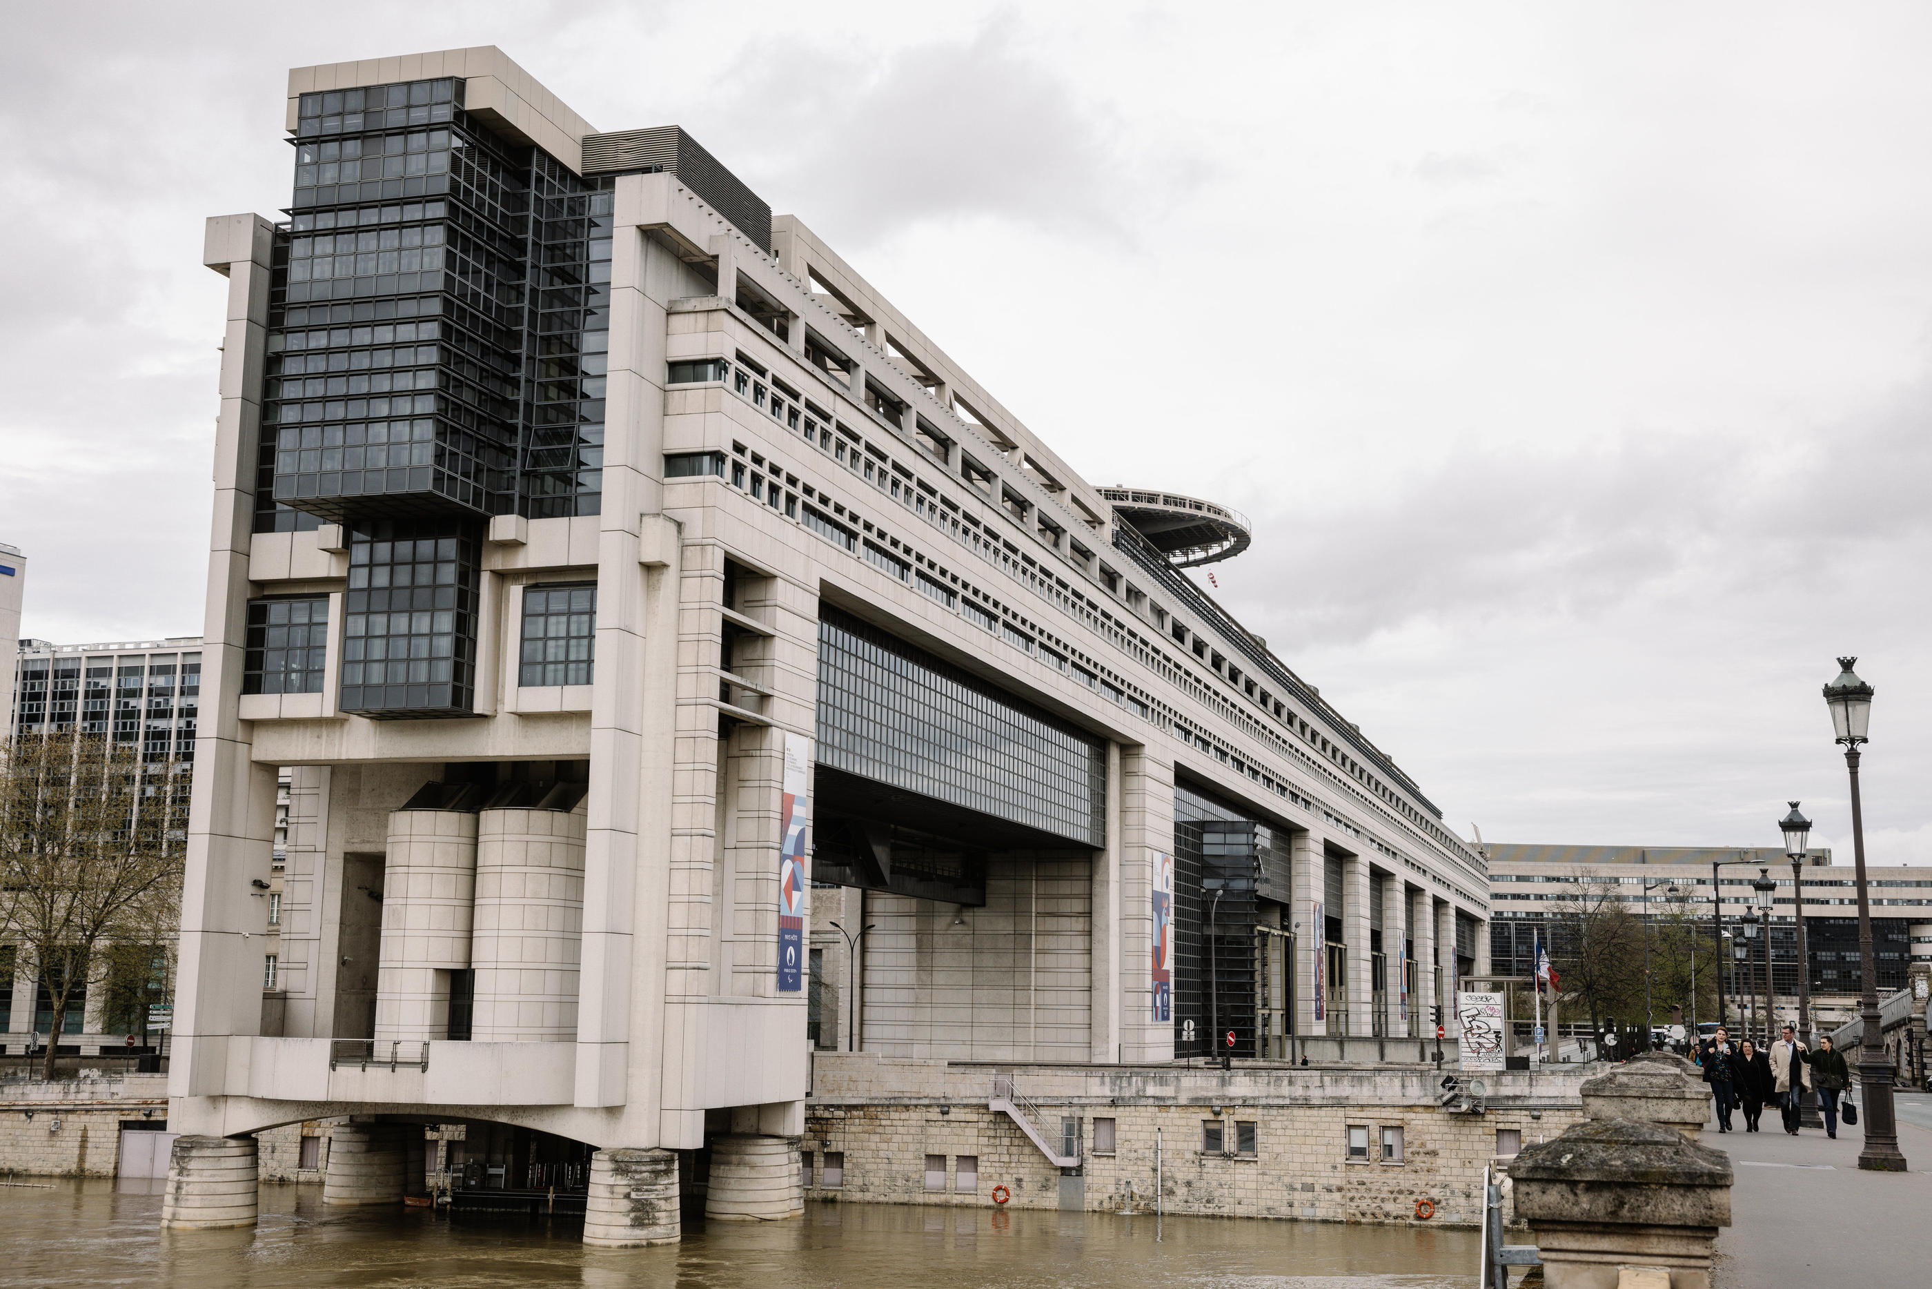
M991 1065L821 1055L800 1146L811 1156L808 1194L991 1206L1003 1185L1020 1208L1117 1212L1132 1190L1132 1208L1151 1212L1159 1138L1169 1214L1476 1225L1482 1169L1507 1163L1499 1131L1532 1146L1582 1117L1580 1069L1482 1074L1480 1115L1439 1105L1441 1074L1428 1067L997 1069L1037 1107L1034 1125L1049 1144L1063 1140L1065 1119L1080 1121L1078 1177L1063 1177L1012 1119L987 1107ZM1095 1121L1111 1121L1111 1152L1099 1148L1107 1129ZM1209 1123L1221 1127L1219 1152L1204 1148ZM1252 1125L1252 1150L1242 1125ZM1366 1158L1350 1156L1350 1129L1366 1129ZM1399 1158L1381 1158L1383 1129L1399 1131ZM929 1158L945 1160L931 1175ZM829 1165L842 1167L829 1177ZM1432 1217L1418 1217L1418 1200L1434 1206Z

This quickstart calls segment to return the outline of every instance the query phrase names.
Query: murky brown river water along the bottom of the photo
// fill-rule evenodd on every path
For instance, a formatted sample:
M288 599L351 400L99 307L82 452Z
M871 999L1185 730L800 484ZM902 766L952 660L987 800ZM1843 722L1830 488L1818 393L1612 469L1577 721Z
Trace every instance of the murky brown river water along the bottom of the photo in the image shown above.
M263 1187L261 1223L168 1231L158 1181L0 1187L0 1285L589 1289L1474 1289L1476 1233L1111 1214L810 1204L800 1221L585 1248L580 1225L325 1210Z

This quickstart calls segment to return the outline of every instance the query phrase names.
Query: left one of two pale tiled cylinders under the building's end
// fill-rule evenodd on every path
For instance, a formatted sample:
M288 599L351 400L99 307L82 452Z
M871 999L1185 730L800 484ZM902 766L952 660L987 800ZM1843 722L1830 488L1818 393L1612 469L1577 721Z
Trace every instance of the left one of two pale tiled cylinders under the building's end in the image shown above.
M396 810L388 816L375 997L379 1040L448 1038L450 972L469 966L475 875L473 814Z

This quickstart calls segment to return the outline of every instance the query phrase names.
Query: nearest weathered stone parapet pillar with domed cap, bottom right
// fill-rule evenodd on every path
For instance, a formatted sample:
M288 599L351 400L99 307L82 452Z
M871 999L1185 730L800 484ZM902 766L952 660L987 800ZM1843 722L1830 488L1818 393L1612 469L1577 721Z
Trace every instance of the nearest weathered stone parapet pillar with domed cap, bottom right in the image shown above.
M1731 1160L1671 1129L1586 1119L1509 1165L1517 1217L1549 1289L1617 1289L1660 1268L1671 1289L1710 1289L1718 1229L1731 1225Z

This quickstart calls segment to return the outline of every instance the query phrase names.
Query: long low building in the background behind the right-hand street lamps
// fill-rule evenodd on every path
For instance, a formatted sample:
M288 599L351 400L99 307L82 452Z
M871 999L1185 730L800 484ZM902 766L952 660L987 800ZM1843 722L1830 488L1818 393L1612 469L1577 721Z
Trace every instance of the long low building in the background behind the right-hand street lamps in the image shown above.
M1721 899L1723 930L1743 939L1743 924L1756 922L1752 891L1760 870L1777 883L1772 897L1772 1005L1779 1017L1795 1017L1799 1007L1799 937L1793 918L1791 858L1783 846L1484 846L1490 860L1490 951L1495 974L1528 976L1534 970L1532 945L1549 939L1557 910L1575 901L1578 883L1615 885L1607 899L1625 901L1640 912L1644 883L1671 883L1681 895L1669 897L1660 885L1650 893L1654 916L1683 910L1704 928L1712 926L1712 893ZM1719 868L1714 872L1712 864ZM1878 959L1878 989L1903 989L1911 962L1932 960L1932 870L1868 864L1872 901L1872 953ZM1712 887L1712 881L1718 885ZM1561 933L1561 931L1559 931ZM1762 939L1745 941L1748 957L1725 966L1725 995L1764 995ZM1814 1020L1832 1030L1859 1015L1859 893L1853 868L1833 864L1830 850L1810 850L1804 868L1804 947L1810 962L1810 1003ZM1704 1017L1712 1020L1714 1017Z

